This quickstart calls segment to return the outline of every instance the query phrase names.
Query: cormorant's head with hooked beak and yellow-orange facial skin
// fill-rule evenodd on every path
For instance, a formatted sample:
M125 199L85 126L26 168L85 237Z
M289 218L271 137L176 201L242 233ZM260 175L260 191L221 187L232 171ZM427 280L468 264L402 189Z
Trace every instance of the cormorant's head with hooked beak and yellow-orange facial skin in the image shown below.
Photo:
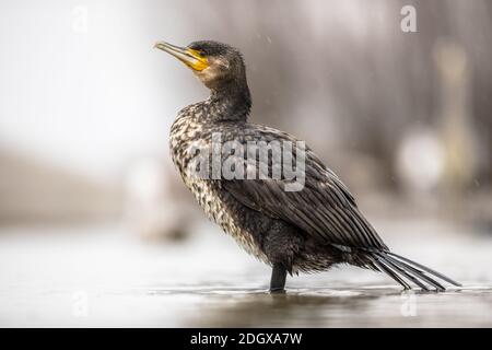
M230 45L203 40L179 47L159 42L154 47L179 59L211 90L220 90L231 83L246 83L243 57Z

